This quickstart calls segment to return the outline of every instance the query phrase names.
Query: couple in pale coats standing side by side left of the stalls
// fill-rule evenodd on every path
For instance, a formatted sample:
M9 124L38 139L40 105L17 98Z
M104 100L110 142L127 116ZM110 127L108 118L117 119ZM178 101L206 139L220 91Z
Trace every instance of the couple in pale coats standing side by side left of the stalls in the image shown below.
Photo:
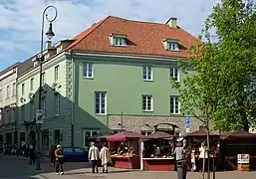
M98 161L102 161L103 173L108 173L108 164L111 163L111 152L107 147L107 144L104 143L101 151L99 151L99 147L96 146L94 142L92 142L92 146L89 149L88 155L89 161L92 163L92 172L99 173L98 169Z

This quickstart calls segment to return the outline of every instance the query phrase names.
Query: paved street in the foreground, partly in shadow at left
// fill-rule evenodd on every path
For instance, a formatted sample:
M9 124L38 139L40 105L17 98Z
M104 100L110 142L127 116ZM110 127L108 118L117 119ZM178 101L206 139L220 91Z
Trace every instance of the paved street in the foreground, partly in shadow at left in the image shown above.
M48 163L42 163L40 172L35 170L35 166L28 165L24 159L13 159L13 157L0 158L0 179L176 179L175 172L147 172L130 171L110 168L109 174L92 174L88 163L66 163L65 175L59 176L54 172L53 167ZM200 173L189 172L187 179L200 179ZM216 179L255 179L256 172L219 172Z

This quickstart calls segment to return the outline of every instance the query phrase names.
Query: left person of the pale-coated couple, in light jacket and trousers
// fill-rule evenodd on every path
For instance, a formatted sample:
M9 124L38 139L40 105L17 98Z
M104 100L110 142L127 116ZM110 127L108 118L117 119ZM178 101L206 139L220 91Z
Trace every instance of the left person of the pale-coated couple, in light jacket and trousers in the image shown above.
M89 149L88 158L89 161L92 163L92 172L95 173L96 170L96 172L99 173L98 161L100 159L100 152L99 148L95 145L94 142L92 142L92 146Z

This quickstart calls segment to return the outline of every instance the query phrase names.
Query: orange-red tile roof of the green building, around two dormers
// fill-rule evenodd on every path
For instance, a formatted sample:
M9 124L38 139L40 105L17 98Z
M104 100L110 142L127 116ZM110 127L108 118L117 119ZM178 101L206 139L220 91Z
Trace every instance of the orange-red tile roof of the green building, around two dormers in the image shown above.
M111 34L127 35L128 47L112 47L109 40ZM163 39L178 40L183 48L177 52L166 51L162 44ZM113 16L103 19L73 40L75 42L68 46L67 50L174 58L187 58L187 49L196 42L194 36L180 28Z

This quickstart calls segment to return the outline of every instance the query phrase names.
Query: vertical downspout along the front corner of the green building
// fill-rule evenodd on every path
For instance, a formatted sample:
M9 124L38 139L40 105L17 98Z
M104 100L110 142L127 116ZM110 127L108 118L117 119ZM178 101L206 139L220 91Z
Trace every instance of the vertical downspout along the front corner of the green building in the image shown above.
M74 59L73 59L73 51L70 50L70 57L71 57L71 146L74 147Z

